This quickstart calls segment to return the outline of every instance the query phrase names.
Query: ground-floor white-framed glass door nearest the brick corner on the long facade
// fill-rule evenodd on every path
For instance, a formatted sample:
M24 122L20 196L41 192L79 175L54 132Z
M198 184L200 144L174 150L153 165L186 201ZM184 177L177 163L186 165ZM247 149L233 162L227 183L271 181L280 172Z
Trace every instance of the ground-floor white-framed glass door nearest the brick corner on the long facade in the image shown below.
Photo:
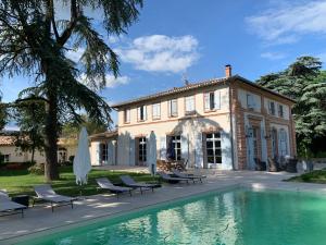
M206 134L208 163L222 163L221 133Z

